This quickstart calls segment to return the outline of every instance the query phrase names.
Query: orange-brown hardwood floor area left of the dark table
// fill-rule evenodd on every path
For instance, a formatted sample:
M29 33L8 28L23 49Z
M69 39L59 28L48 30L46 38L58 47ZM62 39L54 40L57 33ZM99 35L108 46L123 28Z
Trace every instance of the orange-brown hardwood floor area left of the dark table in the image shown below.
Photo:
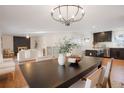
M28 87L28 84L25 81L18 65L16 65L14 80L11 77L11 73L8 75L2 76L2 78L3 79L0 80L0 87L1 88L24 88L24 87Z

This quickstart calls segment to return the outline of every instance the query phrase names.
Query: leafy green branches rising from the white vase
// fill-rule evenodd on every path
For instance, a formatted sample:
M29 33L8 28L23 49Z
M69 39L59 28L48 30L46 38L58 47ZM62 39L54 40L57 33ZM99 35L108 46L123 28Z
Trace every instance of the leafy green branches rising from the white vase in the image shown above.
M63 42L59 44L59 53L66 54L70 53L73 48L78 47L78 45L72 42L72 39L63 39Z

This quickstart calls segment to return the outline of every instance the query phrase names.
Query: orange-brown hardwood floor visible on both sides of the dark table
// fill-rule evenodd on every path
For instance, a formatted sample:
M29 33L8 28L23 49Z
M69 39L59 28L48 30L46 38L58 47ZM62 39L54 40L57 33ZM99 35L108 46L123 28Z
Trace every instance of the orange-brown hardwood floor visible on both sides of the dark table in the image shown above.
M104 58L102 65L105 65L109 59ZM33 64L33 63L32 63ZM15 79L12 80L10 74L0 76L0 88L27 88L28 84L25 81L20 68L16 65ZM111 73L111 80L124 83L124 60L114 59L113 68Z

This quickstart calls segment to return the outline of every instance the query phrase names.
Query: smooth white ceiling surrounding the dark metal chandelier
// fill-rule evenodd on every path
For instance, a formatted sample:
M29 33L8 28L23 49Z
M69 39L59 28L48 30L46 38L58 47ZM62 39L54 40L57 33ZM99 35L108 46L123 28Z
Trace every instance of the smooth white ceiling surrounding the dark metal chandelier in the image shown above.
M14 35L53 32L98 32L124 27L124 6L84 5L84 18L65 26L51 18L47 5L0 5L0 31ZM37 34L36 34L37 33Z

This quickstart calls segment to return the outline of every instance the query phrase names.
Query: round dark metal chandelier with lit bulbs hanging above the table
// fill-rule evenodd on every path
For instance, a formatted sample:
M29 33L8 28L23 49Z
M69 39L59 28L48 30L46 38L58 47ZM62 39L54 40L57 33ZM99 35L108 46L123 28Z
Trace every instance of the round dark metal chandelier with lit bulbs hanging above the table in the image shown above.
M51 16L65 26L80 21L84 16L84 9L79 5L59 5L52 9Z

